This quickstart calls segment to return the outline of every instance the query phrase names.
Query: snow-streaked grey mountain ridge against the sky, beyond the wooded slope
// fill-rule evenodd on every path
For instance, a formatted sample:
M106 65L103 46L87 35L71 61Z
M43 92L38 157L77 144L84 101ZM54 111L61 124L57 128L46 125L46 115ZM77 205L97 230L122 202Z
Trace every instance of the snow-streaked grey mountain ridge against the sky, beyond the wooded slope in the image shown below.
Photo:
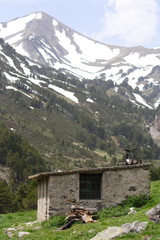
M106 45L72 30L43 12L0 24L0 37L37 64L65 69L80 79L101 78L138 87L160 102L160 48Z

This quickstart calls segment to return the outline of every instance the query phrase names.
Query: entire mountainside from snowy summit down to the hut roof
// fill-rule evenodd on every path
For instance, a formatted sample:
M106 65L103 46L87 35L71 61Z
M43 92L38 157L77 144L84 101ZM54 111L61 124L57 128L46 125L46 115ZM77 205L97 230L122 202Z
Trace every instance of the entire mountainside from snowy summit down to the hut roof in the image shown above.
M41 12L0 34L0 120L51 169L119 163L125 148L159 159L159 49L105 45Z

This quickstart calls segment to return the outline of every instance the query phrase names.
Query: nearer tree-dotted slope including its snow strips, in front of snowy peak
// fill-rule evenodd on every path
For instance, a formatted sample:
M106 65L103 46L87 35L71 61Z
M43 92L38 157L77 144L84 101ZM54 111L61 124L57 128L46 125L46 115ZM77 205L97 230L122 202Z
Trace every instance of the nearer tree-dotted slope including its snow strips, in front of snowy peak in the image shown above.
M158 71L158 67L152 70L153 74ZM152 99L158 96L158 87L147 89ZM57 146L60 152L64 149L61 155L66 159L73 159L70 156L73 151L83 159L79 142L80 146L85 143L87 148L94 145L110 152L114 151L115 143L117 151L121 151L127 141L155 147L149 128L157 109L141 91L126 81L122 84L103 79L80 81L64 69L47 68L20 55L3 39L0 39L0 102L0 121L12 131L22 133L46 156L53 155L53 159ZM152 129L152 137L157 141L155 132L157 127ZM67 139L68 150L62 136Z

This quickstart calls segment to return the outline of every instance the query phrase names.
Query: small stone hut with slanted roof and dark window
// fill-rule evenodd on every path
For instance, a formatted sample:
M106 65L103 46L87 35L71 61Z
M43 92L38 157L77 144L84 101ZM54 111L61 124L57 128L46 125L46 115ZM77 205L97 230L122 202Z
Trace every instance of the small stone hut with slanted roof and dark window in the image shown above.
M37 220L66 214L71 205L100 210L122 202L126 196L149 195L149 166L144 163L29 176L38 181Z

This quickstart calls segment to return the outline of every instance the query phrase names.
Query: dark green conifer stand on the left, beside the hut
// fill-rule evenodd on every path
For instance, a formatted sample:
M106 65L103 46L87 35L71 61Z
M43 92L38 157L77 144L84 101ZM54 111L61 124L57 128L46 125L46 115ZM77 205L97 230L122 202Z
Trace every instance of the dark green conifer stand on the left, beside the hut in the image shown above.
M0 124L0 165L6 166L9 178L0 172L0 213L36 207L36 183L28 175L45 171L44 159L20 135Z

